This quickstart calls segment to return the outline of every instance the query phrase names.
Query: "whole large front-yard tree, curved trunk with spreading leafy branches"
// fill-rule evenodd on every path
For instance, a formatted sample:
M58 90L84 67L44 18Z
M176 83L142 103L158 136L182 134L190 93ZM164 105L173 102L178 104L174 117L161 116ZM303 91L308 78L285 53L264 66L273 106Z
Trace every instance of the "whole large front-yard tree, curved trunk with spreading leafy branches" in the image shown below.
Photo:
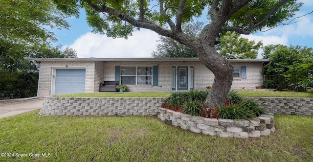
M221 32L250 34L273 27L292 17L302 3L297 0L54 0L67 14L78 16L85 8L93 31L113 38L127 38L137 28L147 28L171 37L191 48L214 75L214 83L205 104L223 105L233 81L233 67L215 49ZM154 1L155 2L155 1ZM206 24L199 37L182 31L182 24L200 17L208 9Z

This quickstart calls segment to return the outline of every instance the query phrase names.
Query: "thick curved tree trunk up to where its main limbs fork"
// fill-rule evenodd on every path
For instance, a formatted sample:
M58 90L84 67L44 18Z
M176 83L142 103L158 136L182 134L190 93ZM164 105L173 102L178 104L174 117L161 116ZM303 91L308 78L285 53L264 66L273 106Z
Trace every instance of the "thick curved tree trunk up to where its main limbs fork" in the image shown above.
M205 28L205 27L204 27ZM214 47L215 36L218 31L209 31L208 34L204 34L203 37L198 40L192 40L189 37L181 35L177 41L190 47L195 53L197 53L202 64L209 70L211 70L215 77L210 93L208 93L204 104L210 108L216 108L217 105L224 105L227 94L233 82L234 68L220 53L218 53ZM207 82L203 80L203 82Z

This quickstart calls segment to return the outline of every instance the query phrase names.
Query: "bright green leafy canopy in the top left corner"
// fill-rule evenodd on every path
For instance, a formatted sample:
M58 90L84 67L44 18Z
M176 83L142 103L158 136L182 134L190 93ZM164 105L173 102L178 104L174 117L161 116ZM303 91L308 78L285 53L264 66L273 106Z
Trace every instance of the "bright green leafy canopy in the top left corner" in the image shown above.
M1 0L0 44L11 48L56 41L46 28L68 28L68 16L52 0Z

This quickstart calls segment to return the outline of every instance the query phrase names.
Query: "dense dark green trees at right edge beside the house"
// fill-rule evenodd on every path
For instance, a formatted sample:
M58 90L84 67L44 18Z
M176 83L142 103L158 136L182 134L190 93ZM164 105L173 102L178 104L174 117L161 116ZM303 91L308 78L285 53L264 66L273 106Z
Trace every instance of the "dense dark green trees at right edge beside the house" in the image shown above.
M264 68L265 88L306 91L313 87L313 49L301 46L269 45L264 57L272 62Z

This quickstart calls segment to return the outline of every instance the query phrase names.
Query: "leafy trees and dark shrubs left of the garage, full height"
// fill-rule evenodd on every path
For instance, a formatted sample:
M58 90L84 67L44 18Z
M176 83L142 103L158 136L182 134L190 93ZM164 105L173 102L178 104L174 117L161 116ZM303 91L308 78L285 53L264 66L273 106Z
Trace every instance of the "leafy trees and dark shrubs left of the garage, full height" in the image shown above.
M58 47L51 47L56 38L47 29L68 29L65 18L69 15L52 0L0 0L0 8L0 99L34 96L38 67L23 58L54 51L58 51L55 57L76 57L70 48L59 52Z

